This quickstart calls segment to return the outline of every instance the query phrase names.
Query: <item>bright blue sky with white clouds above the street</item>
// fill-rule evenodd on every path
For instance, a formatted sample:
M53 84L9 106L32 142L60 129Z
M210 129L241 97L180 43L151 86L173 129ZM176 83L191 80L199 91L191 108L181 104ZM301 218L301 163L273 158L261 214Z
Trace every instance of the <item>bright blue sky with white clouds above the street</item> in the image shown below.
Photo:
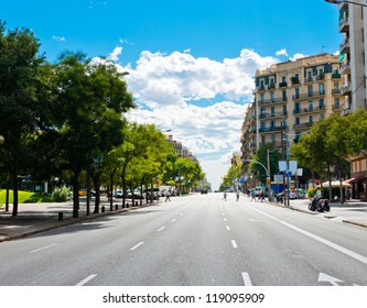
M256 69L342 43L337 6L324 0L2 2L7 28L31 29L48 61L84 52L128 70L131 120L171 129L215 188L239 151Z

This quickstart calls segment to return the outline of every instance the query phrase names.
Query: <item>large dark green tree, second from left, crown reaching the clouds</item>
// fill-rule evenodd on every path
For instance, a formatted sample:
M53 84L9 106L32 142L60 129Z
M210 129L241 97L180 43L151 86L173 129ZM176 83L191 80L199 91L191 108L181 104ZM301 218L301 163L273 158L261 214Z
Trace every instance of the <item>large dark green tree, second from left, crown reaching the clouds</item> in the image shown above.
M105 156L122 142L121 112L134 105L122 75L108 63L95 65L85 55L66 54L56 75L61 166L73 173L73 217L78 217L78 177L84 169L93 173L99 191Z

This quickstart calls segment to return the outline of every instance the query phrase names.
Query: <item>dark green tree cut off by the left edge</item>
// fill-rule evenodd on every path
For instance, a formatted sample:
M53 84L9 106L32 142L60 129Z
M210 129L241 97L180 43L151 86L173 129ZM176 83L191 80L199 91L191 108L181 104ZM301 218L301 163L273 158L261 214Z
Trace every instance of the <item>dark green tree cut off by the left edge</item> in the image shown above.
M28 138L37 129L37 76L44 57L29 29L6 29L0 21L0 134L6 143L7 167L13 182L13 216L18 215L18 175L26 163Z

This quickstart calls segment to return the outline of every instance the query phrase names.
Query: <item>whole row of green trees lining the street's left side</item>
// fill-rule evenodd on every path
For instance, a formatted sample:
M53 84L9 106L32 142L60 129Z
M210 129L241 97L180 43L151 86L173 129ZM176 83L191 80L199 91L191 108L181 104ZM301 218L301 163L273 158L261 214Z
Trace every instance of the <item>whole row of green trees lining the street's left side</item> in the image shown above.
M18 178L24 174L71 183L73 217L78 217L84 174L95 186L95 212L101 184L110 191L115 185L133 191L149 187L152 178L171 180L179 166L191 186L201 180L198 163L177 157L153 124L126 120L122 114L132 108L123 73L110 61L64 53L51 64L30 30L7 30L0 21L0 134L6 140L0 183L13 188L12 215L18 215Z

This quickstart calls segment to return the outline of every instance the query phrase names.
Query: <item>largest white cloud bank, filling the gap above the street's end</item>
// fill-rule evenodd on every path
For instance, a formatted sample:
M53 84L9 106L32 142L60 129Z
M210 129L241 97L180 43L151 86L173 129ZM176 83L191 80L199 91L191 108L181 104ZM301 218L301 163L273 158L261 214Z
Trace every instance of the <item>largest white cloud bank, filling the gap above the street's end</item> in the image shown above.
M109 57L117 61L121 51L115 48ZM213 188L218 188L233 152L240 150L256 70L277 62L246 48L238 57L222 62L194 57L190 50L172 54L144 51L134 67L118 65L120 72L130 73L125 78L139 103L127 117L172 130L173 138L199 158Z

